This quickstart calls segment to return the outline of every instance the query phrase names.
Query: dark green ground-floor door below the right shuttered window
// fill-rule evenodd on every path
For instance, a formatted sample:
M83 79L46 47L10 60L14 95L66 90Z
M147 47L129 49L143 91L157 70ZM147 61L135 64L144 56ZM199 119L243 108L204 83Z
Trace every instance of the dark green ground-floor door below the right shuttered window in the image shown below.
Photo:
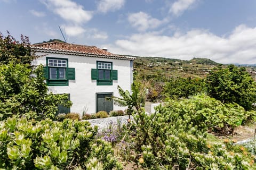
M108 101L105 97L113 96L113 93L99 93L96 94L96 112L99 111L106 111L110 112L113 111L113 101Z

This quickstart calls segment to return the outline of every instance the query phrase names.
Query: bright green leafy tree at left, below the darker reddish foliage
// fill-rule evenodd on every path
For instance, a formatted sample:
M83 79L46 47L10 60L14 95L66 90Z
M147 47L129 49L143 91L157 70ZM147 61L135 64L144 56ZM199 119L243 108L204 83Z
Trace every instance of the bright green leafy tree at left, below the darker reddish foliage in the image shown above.
M71 106L70 101L64 102L68 95L54 95L47 91L42 65L35 70L24 64L1 65L0 120L10 115L26 115L35 120L54 118L58 105Z

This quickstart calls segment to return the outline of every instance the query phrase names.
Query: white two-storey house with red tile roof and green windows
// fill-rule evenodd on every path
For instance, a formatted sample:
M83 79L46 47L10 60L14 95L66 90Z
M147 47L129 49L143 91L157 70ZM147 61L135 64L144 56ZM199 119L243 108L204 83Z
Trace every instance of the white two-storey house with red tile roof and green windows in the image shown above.
M43 64L47 86L54 94L69 94L73 106L59 112L82 114L124 109L107 101L106 96L119 96L117 85L131 91L134 57L109 53L95 46L60 43L31 45L36 55L33 62Z

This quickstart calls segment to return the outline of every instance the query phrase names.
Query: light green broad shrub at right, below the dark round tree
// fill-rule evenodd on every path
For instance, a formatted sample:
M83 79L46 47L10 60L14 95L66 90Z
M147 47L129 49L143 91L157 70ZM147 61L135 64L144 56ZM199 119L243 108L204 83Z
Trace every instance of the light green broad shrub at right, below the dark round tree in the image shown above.
M255 112L246 112L235 103L222 104L206 95L193 96L180 101L170 100L166 104L172 114L188 119L200 129L210 129L222 134L233 133L234 128L246 121ZM175 120L173 120L175 121Z

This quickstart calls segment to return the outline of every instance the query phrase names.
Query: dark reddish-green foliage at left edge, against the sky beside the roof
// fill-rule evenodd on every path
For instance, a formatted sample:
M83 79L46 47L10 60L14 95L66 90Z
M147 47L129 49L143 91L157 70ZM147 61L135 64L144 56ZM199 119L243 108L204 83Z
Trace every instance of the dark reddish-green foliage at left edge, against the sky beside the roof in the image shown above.
M21 41L15 40L9 32L6 37L0 32L0 64L30 64L36 56L31 54L28 37L21 35Z

